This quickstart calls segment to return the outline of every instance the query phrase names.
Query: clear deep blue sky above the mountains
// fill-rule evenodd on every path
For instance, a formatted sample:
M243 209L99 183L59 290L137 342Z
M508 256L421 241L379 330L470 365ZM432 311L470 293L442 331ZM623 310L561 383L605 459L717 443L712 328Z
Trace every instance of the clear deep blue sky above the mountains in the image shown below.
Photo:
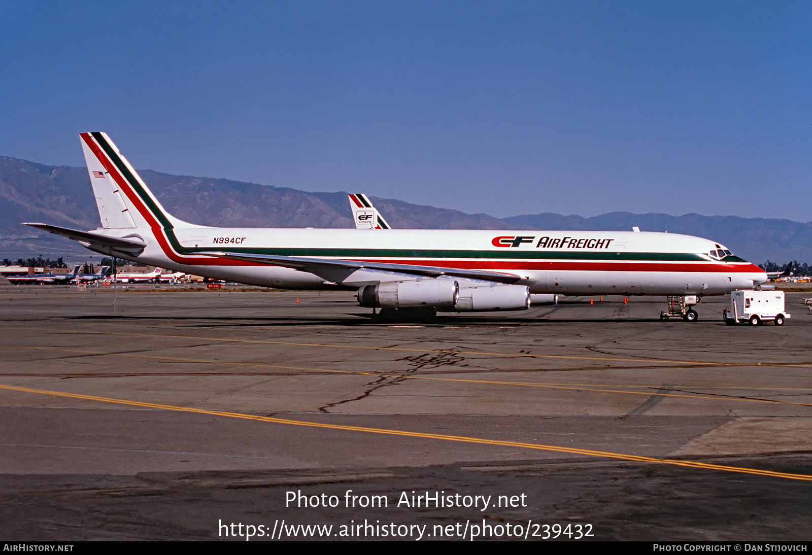
M10 2L0 155L506 217L812 220L812 2Z

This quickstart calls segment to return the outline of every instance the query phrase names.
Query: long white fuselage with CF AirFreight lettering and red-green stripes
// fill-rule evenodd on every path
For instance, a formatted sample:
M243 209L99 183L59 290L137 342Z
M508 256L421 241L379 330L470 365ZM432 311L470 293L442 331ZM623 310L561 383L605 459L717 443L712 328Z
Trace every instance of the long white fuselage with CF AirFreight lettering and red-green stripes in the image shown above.
M144 252L131 259L141 263L292 289L349 288L380 281L380 277L373 279L360 269L330 280L296 269L196 256L195 252L220 250L482 269L519 275L516 283L529 286L531 293L563 295L723 295L767 281L762 269L744 260L708 256L716 243L682 234L194 226L171 230L176 239L173 246L161 231L153 234L153 230L130 228L97 232L144 239Z

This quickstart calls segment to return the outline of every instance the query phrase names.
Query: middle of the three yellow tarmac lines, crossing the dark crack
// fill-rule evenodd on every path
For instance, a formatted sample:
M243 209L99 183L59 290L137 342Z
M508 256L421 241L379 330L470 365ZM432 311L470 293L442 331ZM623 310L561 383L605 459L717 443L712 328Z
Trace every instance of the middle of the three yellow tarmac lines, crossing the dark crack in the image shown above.
M98 351L84 351L81 349L60 349L58 347L41 347L41 346L15 346L10 347L6 346L6 348L15 348L15 349L31 349L33 351L58 351L58 352L67 352L67 353L76 353L80 355L97 355L97 356L124 356L134 359L151 359L151 360L166 360L169 362L179 362L179 363L194 363L194 364L226 364L230 366L248 366L248 367L255 367L255 368L277 368L279 370L304 370L310 372L328 372L328 373L335 373L335 374L350 374L353 376L378 376L378 377L390 377L390 378L398 378L401 380L431 380L431 381L456 381L461 383L471 383L471 384L488 384L488 385L515 385L520 387L538 387L544 389L568 389L568 390L577 390L577 391L591 391L593 393L615 393L615 394L631 394L631 395L646 395L650 397L651 395L662 395L663 397L679 397L679 398L689 398L689 399L711 399L711 400L719 400L720 398L731 400L731 401L747 401L747 402L775 402L782 405L796 405L799 407L812 407L812 404L807 404L803 402L788 402L788 401L775 401L774 399L760 399L760 398L748 398L748 397L738 397L738 396L728 396L728 395L702 395L702 394L668 394L668 393L660 393L659 390L663 389L662 385L577 385L577 384L551 384L551 383L533 383L530 381L499 381L499 380L471 380L471 379L464 379L464 378L448 378L448 377L437 377L437 376L419 376L419 375L402 375L402 374L390 374L386 372L361 372L358 370L336 370L330 368L310 368L306 366L283 366L280 364L264 364L264 363L247 363L247 362L232 362L227 360L208 360L208 359L181 359L178 357L169 357L169 356L155 356L155 355L136 355L133 353L104 353ZM269 375L272 376L272 375ZM41 377L41 376L40 376ZM110 377L110 376L107 376ZM130 377L129 375L127 377ZM656 391L626 391L626 390L619 390L619 389L595 389L596 387L637 387L637 388L650 388L656 389ZM702 386L699 386L702 387ZM733 388L733 389L748 389L748 388Z

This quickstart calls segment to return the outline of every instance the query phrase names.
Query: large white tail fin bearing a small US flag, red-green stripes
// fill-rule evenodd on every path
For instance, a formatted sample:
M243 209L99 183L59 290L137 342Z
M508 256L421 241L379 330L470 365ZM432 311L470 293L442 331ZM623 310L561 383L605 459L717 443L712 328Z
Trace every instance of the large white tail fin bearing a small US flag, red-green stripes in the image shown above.
M80 133L103 228L197 227L172 217L105 133Z

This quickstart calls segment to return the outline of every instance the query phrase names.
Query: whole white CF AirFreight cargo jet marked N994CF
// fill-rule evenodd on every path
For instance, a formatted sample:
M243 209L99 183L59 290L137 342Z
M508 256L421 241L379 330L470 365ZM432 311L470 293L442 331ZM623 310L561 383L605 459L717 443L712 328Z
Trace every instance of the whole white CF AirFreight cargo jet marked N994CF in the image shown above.
M525 309L534 293L701 297L767 282L719 243L671 233L197 226L166 213L106 134L80 137L102 226L27 225L142 264L448 312Z

